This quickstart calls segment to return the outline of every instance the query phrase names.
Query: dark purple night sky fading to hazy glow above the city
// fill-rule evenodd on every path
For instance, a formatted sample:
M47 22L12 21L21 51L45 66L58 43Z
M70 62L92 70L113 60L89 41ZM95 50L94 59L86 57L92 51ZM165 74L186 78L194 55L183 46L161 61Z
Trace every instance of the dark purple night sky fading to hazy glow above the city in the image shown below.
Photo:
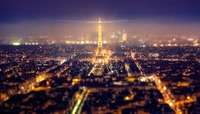
M0 36L95 32L94 24L70 21L125 20L111 32L197 34L200 0L1 0ZM69 21L70 20L70 21Z

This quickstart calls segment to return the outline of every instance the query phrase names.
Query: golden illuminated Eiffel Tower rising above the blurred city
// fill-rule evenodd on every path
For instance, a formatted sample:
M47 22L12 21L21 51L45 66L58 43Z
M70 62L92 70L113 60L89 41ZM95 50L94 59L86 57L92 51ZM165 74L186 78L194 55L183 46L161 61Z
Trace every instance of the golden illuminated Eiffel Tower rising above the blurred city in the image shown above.
M95 53L95 57L93 60L93 64L95 63L107 63L105 53L103 50L103 38L102 38L102 26L101 26L101 19L99 18L98 22L98 41L97 41L97 49Z

